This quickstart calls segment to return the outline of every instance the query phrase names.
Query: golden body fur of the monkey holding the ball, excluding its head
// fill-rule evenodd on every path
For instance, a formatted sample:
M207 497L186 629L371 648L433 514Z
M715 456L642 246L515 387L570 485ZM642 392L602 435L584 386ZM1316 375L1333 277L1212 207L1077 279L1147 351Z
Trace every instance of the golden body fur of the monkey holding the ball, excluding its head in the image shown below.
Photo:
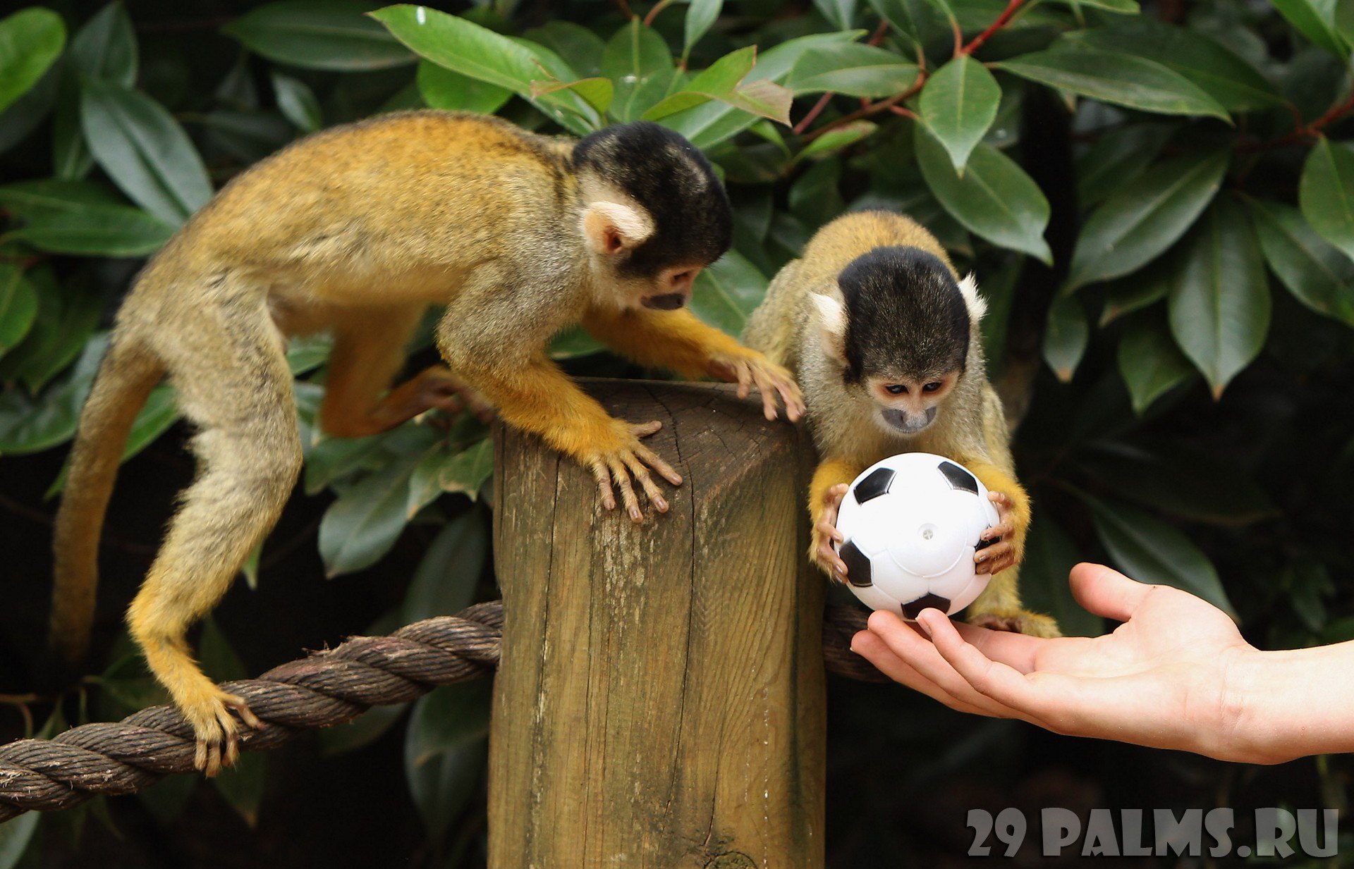
M911 436L887 433L876 425L869 398L846 388L841 364L823 348L819 311L810 294L841 300L837 276L852 260L880 246L919 248L938 257L956 280L959 277L936 237L915 221L886 211L846 214L823 226L800 259L776 275L766 299L743 332L749 347L793 371L804 393L806 418L821 459L808 491L814 524L810 556L818 562L818 547L823 543L818 525L826 510L835 509L834 487L850 483L875 462L899 452L948 456L971 470L988 491L1009 497L1009 521L1014 527L1010 543L1016 566L992 577L969 606L969 621L1056 636L1057 627L1051 619L1026 612L1020 604L1017 574L1030 522L1030 501L1016 479L1002 403L987 380L978 317L971 317L963 376L941 399L936 421ZM826 564L819 566L827 570Z

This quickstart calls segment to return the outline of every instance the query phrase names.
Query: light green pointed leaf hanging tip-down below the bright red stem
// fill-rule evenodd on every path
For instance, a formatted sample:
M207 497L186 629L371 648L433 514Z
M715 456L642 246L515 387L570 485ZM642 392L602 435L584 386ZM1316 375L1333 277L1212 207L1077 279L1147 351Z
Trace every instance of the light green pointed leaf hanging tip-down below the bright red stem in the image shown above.
M949 61L933 74L922 88L918 108L922 123L949 152L955 171L964 173L968 154L983 141L997 106L1002 102L1002 88L987 68L964 54Z

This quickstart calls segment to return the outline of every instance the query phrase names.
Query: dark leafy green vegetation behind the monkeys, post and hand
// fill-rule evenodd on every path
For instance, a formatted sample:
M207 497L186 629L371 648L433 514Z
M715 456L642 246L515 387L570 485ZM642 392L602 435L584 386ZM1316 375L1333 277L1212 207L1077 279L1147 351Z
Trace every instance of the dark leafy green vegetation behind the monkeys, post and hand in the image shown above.
M121 613L192 472L168 391L114 495L91 670L41 666L53 483L142 257L286 142L425 104L688 134L738 214L696 310L734 333L842 208L922 219L991 303L1033 606L1102 631L1066 574L1105 560L1229 609L1261 647L1354 638L1350 0L508 0L429 7L427 41L409 8L387 30L360 0L47 8L0 20L0 739L160 701ZM218 678L497 596L483 429L317 443L325 349L292 348L303 490L202 631ZM594 351L556 344L573 372L642 374ZM1347 808L1345 757L1217 763L837 679L829 716L834 868L964 862L969 808ZM486 684L439 689L213 782L24 816L0 868L482 865L486 727Z

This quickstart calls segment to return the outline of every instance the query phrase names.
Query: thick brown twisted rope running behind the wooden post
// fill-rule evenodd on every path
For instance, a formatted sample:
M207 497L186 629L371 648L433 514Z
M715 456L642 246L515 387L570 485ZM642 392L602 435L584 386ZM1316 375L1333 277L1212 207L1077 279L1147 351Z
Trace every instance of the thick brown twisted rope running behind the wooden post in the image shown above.
M852 678L880 674L850 652L864 613L831 608L823 624L827 669ZM241 732L244 751L272 749L314 727L332 727L374 705L406 703L437 685L493 673L502 640L502 604L437 616L390 636L355 636L336 648L222 688L263 721ZM27 811L79 805L99 795L135 793L171 773L191 773L192 728L173 707L150 707L121 721L81 724L54 739L0 746L0 823Z

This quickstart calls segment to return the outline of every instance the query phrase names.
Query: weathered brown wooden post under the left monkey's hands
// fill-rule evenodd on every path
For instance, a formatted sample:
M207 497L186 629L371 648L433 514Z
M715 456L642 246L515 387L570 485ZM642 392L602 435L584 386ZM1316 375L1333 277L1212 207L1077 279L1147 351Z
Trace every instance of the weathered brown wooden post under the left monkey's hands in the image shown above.
M647 443L685 482L635 525L575 463L498 429L489 866L819 869L807 437L726 386L585 386L661 420Z

